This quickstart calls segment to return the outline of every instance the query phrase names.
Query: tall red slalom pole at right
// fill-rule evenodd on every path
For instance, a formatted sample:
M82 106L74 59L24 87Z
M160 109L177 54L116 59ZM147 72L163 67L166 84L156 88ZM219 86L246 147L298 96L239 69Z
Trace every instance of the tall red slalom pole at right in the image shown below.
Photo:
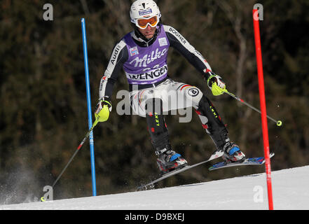
M257 64L258 78L259 78L261 122L262 122L262 129L263 129L264 157L265 157L266 181L267 181L267 190L268 190L268 208L269 210L273 210L273 191L271 187L268 126L267 126L267 117L266 117L266 100L265 100L264 78L263 78L263 62L262 62L262 52L261 52L259 16L257 16L257 13L258 13L257 11L258 11L257 9L253 10L254 40L255 40L255 47L256 47L256 64Z

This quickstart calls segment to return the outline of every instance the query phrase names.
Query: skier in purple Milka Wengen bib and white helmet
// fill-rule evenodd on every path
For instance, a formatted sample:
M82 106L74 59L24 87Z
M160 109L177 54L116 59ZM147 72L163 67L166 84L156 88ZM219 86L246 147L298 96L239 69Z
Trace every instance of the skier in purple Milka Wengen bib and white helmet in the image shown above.
M95 117L105 121L111 111L111 95L118 73L123 67L128 78L132 110L146 117L151 144L158 156L161 172L170 172L187 165L187 161L175 151L169 140L163 112L170 111L169 91L177 97L185 97L201 120L217 150L224 151L222 158L229 162L245 160L245 154L228 138L228 130L216 109L197 87L179 83L167 76L167 52L170 47L178 50L195 69L202 73L214 95L224 93L226 85L216 75L204 57L173 27L163 25L158 6L152 0L137 0L130 8L133 31L116 43L104 76L99 84L99 102ZM186 107L178 104L176 109Z

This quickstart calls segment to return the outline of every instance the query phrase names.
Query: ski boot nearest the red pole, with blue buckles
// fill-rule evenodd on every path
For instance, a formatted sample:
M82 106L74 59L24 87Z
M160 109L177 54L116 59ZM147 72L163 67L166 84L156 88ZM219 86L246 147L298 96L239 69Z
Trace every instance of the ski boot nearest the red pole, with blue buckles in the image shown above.
M227 142L223 149L224 155L222 155L222 158L225 162L243 162L245 160L245 154L233 142Z

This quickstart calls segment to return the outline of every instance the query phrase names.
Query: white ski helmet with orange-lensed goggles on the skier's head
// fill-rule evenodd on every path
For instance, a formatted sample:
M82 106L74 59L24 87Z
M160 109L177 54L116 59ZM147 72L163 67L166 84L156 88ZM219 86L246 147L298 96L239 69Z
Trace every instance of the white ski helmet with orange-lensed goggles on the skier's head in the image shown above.
M131 5L131 22L141 29L146 29L148 25L156 27L160 21L160 17L159 7L153 0L137 0Z

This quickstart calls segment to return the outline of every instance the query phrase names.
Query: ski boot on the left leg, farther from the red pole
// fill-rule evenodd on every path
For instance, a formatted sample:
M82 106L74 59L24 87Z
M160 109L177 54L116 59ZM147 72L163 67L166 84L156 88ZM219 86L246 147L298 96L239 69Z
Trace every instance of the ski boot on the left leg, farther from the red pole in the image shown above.
M181 169L186 167L188 162L181 157L179 153L172 151L170 145L167 145L165 148L156 151L158 155L157 165L162 174L171 172L174 169Z

